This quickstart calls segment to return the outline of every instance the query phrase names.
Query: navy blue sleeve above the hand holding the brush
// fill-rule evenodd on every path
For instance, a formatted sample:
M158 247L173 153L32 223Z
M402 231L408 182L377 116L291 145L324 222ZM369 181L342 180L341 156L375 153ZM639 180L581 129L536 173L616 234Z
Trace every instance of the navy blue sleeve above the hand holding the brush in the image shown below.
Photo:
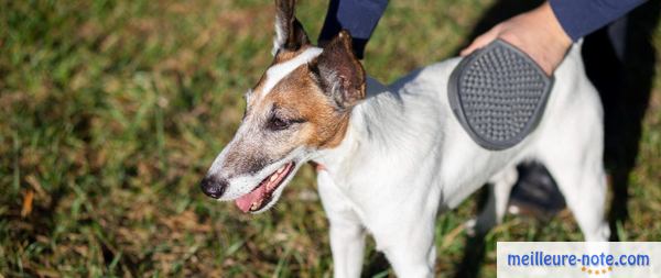
M555 18L574 42L642 2L644 0L549 0Z

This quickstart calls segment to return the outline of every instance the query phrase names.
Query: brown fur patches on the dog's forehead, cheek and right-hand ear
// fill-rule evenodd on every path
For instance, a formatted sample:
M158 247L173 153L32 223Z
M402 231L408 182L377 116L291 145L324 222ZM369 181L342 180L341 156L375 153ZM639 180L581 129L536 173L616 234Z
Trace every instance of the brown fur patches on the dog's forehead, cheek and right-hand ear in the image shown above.
M304 32L303 32L304 33ZM299 49L283 48L273 65L291 62L312 45ZM263 98L249 98L248 110L282 110L282 120L302 123L292 143L313 148L335 147L342 142L350 108L365 98L365 70L354 56L351 38L343 31L315 59L301 65L281 79L269 92L263 92L268 77L253 88Z

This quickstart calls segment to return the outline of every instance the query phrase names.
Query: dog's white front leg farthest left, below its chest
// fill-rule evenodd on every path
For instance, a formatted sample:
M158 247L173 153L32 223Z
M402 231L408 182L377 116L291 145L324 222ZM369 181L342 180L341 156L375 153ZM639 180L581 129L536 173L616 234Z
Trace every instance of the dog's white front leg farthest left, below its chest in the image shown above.
M335 277L360 277L365 252L365 229L346 196L327 171L317 174L322 204L330 223L330 251Z

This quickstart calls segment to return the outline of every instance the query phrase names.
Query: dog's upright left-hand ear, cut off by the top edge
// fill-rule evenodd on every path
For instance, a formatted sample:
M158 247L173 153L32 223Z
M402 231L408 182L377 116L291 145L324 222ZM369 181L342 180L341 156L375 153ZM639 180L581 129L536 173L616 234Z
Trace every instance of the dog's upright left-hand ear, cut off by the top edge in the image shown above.
M275 38L273 38L272 54L280 49L297 51L301 46L310 44L307 34L301 22L294 15L295 0L275 0Z

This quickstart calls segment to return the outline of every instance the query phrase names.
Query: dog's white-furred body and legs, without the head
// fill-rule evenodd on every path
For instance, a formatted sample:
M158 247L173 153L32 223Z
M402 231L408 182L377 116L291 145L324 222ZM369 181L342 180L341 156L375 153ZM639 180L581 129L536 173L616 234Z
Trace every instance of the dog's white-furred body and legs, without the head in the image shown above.
M317 177L330 221L335 277L359 277L369 231L399 277L432 277L434 222L487 181L496 194L478 218L488 230L505 214L516 165L545 164L587 241L605 241L603 112L575 46L559 67L538 129L517 146L491 152L452 114L447 80L459 59L431 65L391 86L368 80L342 144L317 152Z

